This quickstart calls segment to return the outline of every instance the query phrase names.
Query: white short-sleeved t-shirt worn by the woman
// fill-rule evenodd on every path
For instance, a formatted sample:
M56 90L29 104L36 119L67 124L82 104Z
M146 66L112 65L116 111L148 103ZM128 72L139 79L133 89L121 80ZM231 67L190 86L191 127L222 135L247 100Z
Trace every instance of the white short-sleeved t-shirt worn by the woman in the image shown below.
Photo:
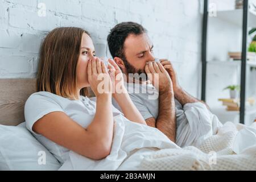
M69 158L68 148L32 131L32 126L38 119L53 111L61 111L67 114L73 121L86 128L90 125L96 113L96 97L80 96L80 100L71 100L50 92L36 92L31 94L26 101L24 115L27 129L63 164ZM121 112L113 106L113 114L118 115Z

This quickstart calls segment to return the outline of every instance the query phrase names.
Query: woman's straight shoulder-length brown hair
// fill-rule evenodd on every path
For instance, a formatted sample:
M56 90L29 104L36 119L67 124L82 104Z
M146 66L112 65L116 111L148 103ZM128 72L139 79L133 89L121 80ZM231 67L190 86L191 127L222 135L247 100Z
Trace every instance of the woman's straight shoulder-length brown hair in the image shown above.
M37 92L79 99L76 68L84 33L89 35L78 27L59 27L49 32L40 49ZM80 95L88 96L88 89L82 88Z

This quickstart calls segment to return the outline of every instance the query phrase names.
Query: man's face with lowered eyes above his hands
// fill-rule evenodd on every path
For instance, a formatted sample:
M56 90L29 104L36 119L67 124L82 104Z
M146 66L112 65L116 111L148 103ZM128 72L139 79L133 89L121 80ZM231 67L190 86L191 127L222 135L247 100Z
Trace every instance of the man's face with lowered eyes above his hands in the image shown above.
M129 35L124 43L124 53L127 73L145 73L146 63L155 60L153 45L146 33Z

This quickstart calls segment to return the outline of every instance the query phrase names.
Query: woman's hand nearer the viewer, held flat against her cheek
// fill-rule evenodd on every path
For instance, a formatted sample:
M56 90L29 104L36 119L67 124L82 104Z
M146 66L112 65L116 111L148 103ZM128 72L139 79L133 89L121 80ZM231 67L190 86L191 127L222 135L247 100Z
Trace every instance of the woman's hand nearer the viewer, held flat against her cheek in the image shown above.
M90 87L96 97L112 95L113 87L110 75L105 64L98 57L89 60L87 73Z

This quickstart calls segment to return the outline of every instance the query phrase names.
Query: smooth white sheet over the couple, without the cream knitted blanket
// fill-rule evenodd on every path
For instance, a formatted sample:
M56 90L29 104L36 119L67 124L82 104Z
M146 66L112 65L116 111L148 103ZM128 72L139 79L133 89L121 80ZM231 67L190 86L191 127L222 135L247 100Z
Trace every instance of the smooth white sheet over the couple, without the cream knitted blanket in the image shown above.
M177 131L182 131L177 133L177 143L182 143L183 146L189 145L200 148L208 138L214 139L214 136L217 136L216 134L221 135L222 124L216 116L209 112L205 105L195 103L184 108L188 122L177 126ZM180 126L183 129L179 129ZM238 131L235 130L236 126L226 125L224 133L237 134ZM243 135L242 140L239 140L237 145L239 146L246 139L247 137ZM234 140L232 139L230 144L233 143ZM69 152L69 159L59 170L143 170L145 168L142 168L141 163L144 159L150 159L155 154L154 158L162 158L161 151L168 150L170 152L165 153L163 157L175 155L178 151L183 151L183 148L177 146L158 129L131 122L122 115L117 115L114 117L114 137L109 156L102 160L92 160L71 151Z

